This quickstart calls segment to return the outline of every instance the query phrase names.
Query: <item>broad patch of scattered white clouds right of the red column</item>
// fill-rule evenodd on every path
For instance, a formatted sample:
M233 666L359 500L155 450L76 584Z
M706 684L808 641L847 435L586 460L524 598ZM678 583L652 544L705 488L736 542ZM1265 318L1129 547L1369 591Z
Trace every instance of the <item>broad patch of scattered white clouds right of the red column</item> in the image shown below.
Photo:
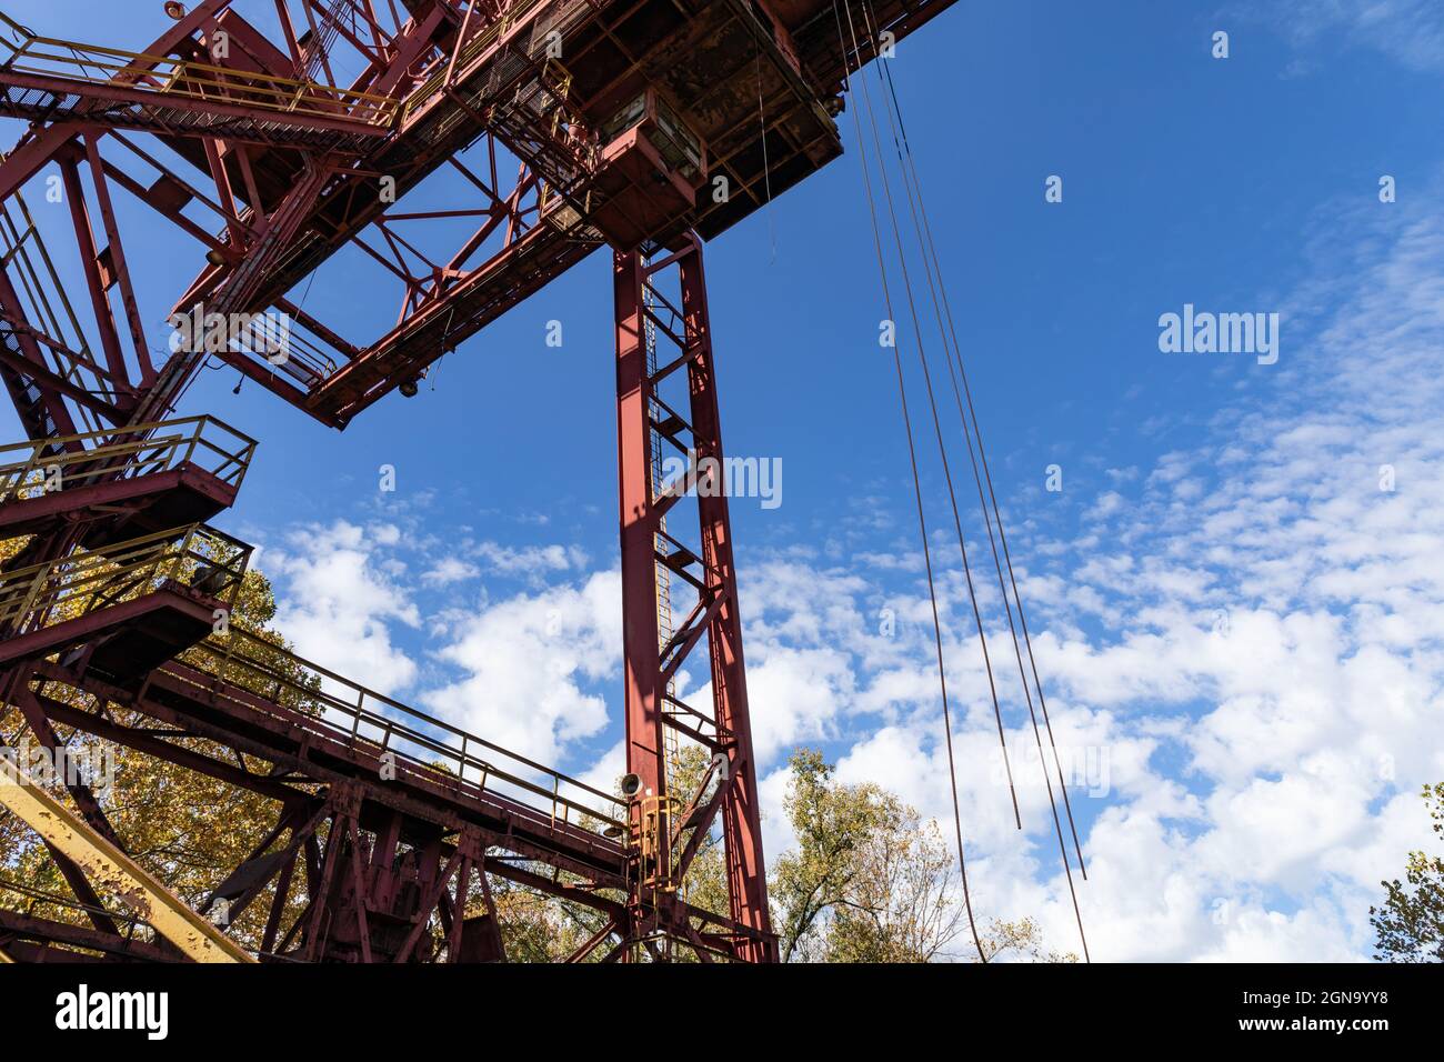
M1379 878L1430 841L1415 793L1444 777L1444 223L1365 224L1339 238L1378 257L1305 285L1331 315L1313 342L1295 332L1291 361L1196 449L1109 477L1086 536L1018 536L1015 556L1050 559L1024 585L1058 744L1106 754L1106 796L1070 787L1095 958L1365 958ZM855 561L794 555L744 584L764 764L832 741L842 780L884 785L950 829L927 598L915 581L884 588L907 571ZM1021 837L957 572L940 584L975 902L1034 915L1076 949L996 598ZM874 634L882 601L894 639ZM773 858L790 844L786 785L774 767L761 786Z

